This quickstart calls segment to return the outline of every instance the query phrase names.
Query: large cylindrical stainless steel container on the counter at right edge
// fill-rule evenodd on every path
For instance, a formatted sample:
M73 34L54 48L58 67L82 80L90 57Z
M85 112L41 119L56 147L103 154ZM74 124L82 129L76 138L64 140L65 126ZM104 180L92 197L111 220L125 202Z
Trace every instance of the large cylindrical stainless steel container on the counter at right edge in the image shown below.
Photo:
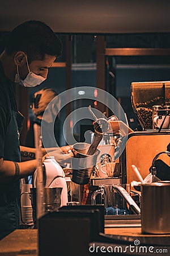
M170 181L142 184L142 233L170 233Z

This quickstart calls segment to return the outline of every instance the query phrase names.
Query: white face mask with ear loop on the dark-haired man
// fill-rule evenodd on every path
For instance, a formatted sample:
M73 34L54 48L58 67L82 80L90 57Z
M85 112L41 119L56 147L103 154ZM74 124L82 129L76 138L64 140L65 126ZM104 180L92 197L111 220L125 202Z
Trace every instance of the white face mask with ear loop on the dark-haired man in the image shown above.
M27 77L24 80L22 80L19 75L18 65L16 65L17 73L15 75L15 82L17 82L18 84L20 84L24 87L35 87L35 86L41 84L41 82L43 82L45 80L45 78L42 76L38 76L35 73L31 72L29 69L29 65L28 65L27 55L25 55L25 58L27 61L27 67L28 67L29 73L28 73Z

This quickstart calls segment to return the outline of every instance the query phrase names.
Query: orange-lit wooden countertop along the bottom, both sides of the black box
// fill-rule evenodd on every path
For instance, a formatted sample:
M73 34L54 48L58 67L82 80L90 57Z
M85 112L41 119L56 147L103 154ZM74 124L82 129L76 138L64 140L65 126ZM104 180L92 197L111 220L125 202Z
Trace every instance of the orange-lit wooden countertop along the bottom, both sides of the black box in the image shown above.
M142 234L141 228L105 228L105 234L110 234L113 237L138 238L140 241L144 238L145 241L152 241L153 238L165 239L170 242L170 234L153 235ZM130 241L130 240L129 240ZM168 243L169 245L169 243ZM38 256L37 252L37 230L36 229L17 229L7 237L0 241L0 256ZM50 255L49 255L50 256Z

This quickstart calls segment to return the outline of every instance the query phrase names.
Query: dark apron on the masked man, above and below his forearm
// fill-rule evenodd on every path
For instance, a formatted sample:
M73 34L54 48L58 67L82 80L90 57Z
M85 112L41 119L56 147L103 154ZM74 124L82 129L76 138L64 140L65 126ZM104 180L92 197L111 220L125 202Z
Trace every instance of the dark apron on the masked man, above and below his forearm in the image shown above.
M20 162L19 134L23 115L11 110L5 135L4 160ZM19 228L20 181L0 184L0 239Z

